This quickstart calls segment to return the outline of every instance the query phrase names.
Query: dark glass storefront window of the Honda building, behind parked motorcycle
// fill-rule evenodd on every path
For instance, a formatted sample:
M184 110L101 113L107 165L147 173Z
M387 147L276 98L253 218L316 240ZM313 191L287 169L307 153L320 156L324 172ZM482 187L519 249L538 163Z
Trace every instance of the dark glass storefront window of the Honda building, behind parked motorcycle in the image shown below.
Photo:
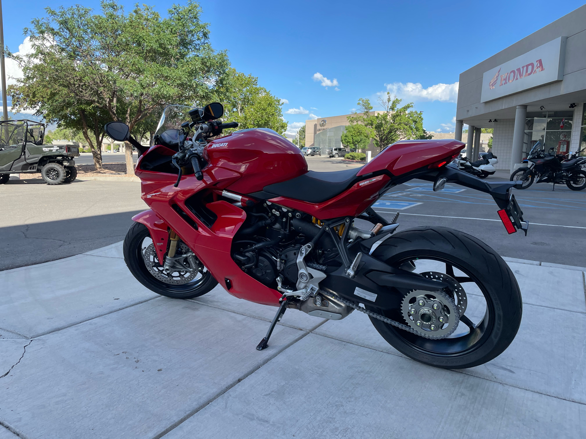
M573 111L528 112L525 121L523 156L526 157L537 142L540 142L541 149L545 151L550 148L557 150L560 142L564 141L570 145L573 119ZM584 120L582 120L582 124L584 124ZM582 133L584 133L584 129L582 129Z

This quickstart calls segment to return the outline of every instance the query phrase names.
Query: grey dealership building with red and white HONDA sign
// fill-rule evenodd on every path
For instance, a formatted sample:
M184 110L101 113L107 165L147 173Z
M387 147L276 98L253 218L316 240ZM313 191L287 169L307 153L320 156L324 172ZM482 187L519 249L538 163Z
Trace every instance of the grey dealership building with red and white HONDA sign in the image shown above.
M481 128L493 128L496 166L512 171L537 142L585 148L584 102L586 5L460 74L455 138L468 124L466 153L477 159Z

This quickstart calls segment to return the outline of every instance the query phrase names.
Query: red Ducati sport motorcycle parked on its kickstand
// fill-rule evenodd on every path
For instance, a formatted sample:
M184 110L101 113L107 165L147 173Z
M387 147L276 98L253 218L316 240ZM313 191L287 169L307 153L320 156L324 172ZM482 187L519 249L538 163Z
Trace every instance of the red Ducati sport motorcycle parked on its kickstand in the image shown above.
M220 283L278 307L259 350L287 308L329 320L365 313L398 351L440 368L480 365L513 341L521 295L493 249L445 227L395 233L398 215L384 218L374 204L409 180L433 190L456 183L490 194L507 231L526 233L516 182L449 164L464 148L452 139L403 140L356 169L308 171L301 150L270 129L221 136L238 125L222 115L219 103L169 105L150 148L121 122L105 126L140 154L135 172L151 209L132 218L124 259L144 286L190 299Z

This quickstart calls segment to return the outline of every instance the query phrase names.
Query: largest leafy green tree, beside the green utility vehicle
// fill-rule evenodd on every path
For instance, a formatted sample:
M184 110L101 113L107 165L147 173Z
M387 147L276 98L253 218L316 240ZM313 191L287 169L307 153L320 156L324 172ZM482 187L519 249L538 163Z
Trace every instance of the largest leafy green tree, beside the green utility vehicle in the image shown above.
M84 135L93 130L96 143L104 114L135 132L135 125L166 104L205 104L223 86L229 61L212 49L193 0L173 5L167 18L147 5L125 14L105 0L101 14L80 5L46 12L33 20L32 30L25 29L32 55L11 55L24 75L11 94L22 108L39 108L39 114L50 109L52 120L82 126ZM92 151L95 163L99 148ZM127 173L134 173L131 148L126 151Z

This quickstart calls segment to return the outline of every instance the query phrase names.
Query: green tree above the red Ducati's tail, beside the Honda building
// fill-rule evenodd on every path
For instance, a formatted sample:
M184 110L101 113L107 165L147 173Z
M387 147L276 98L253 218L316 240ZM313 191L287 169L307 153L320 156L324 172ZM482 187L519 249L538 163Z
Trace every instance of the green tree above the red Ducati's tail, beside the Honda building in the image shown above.
M383 111L372 111L373 107L368 99L359 99L360 112L350 116L351 125L362 124L371 130L374 146L383 149L391 143L403 139L430 138L423 129L423 113L413 111L413 102L399 107L401 100L391 98L390 92L379 98Z

